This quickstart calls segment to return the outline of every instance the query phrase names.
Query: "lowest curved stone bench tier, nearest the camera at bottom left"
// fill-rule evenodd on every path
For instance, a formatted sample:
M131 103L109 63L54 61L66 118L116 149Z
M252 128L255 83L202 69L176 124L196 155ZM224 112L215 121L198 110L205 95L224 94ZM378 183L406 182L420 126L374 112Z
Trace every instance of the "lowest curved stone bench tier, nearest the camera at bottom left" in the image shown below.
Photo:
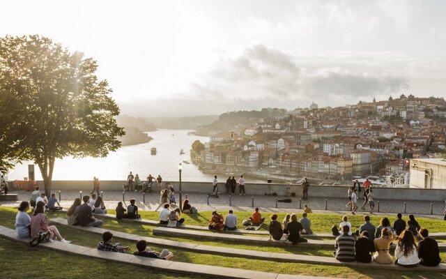
M0 226L0 236L21 243L29 243L29 239L20 239L17 237L14 229ZM296 276L289 274L269 273L261 271L250 271L245 269L232 269L220 266L208 266L203 264L190 264L186 262L173 262L163 259L153 259L148 257L137 257L130 254L119 252L105 252L96 248L89 248L75 244L61 243L54 241L52 243L40 243L36 248L47 248L58 252L69 253L80 257L91 257L95 259L105 259L109 262L119 264L141 266L146 269L155 269L169 273L180 273L188 275L206 276L208 278L245 278L245 279L305 279L319 278L312 276ZM68 263L67 263L68 264ZM322 279L322 278L321 278Z

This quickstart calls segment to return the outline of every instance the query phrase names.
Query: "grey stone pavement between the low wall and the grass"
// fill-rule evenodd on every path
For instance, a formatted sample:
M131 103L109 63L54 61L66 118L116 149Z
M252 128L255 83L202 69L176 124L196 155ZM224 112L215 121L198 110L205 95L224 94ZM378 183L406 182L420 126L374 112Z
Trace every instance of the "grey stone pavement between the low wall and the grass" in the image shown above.
M14 191L11 193L17 193L19 195L19 201L2 201L0 204L3 206L17 206L20 204L22 200L29 201L29 197L31 197L31 192L26 191ZM54 189L54 193L56 193L57 199L59 199L59 191ZM82 193L82 195L90 195L90 193ZM304 205L307 204L312 210L316 211L330 211L330 212L338 212L348 213L346 203L347 199L341 198L332 198L332 197L311 197L311 193L309 195L309 199L307 201L300 200L298 197L290 197L292 202L277 202L276 206L276 197L268 196L268 195L227 195L220 194L218 198L209 197L206 193L183 193L183 199L187 198L190 200L190 204L192 206L197 207L199 211L211 211L211 210L219 210L226 211L229 209L233 209L236 211L252 211L253 207L259 207L262 211L299 211L299 209L303 209ZM125 192L125 203L128 204L130 199L136 199L137 205L142 210L153 211L157 208L157 205L160 202L159 193L146 193L145 195L145 203L143 203L143 193L139 192ZM79 191L77 190L63 190L61 192L61 206L64 208L70 207L72 201L79 197ZM254 197L254 206L253 199ZM118 202L123 201L123 193L121 191L109 191L103 193L103 198L105 200L105 205L109 209L116 208ZM286 199L289 197L277 197L277 199ZM326 208L325 208L325 199ZM178 192L176 192L176 201L178 204L179 197ZM209 203L208 203L209 201ZM391 200L391 199L379 199L375 198L375 213L378 211L378 201L380 207L380 213L404 213L404 202L403 200ZM364 202L364 199L359 199L358 204L360 206L360 210L358 213L368 213L367 210L362 210L361 206ZM431 215L431 203L433 209L433 215ZM368 209L368 205L366 206ZM443 211L445 210L445 204L443 202L429 202L429 201L406 201L406 214L416 214L418 215L426 215L431 218L443 219Z

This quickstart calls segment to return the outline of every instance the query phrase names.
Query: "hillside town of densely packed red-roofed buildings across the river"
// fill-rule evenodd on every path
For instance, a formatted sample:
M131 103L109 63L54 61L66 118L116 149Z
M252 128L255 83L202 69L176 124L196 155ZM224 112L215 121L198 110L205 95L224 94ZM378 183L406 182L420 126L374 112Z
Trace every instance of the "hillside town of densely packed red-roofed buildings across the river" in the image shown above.
M347 181L399 176L407 172L411 158L433 158L445 151L444 98L410 94L334 108L312 103L249 120L250 126L209 130L210 142L192 155L194 163L203 172Z

